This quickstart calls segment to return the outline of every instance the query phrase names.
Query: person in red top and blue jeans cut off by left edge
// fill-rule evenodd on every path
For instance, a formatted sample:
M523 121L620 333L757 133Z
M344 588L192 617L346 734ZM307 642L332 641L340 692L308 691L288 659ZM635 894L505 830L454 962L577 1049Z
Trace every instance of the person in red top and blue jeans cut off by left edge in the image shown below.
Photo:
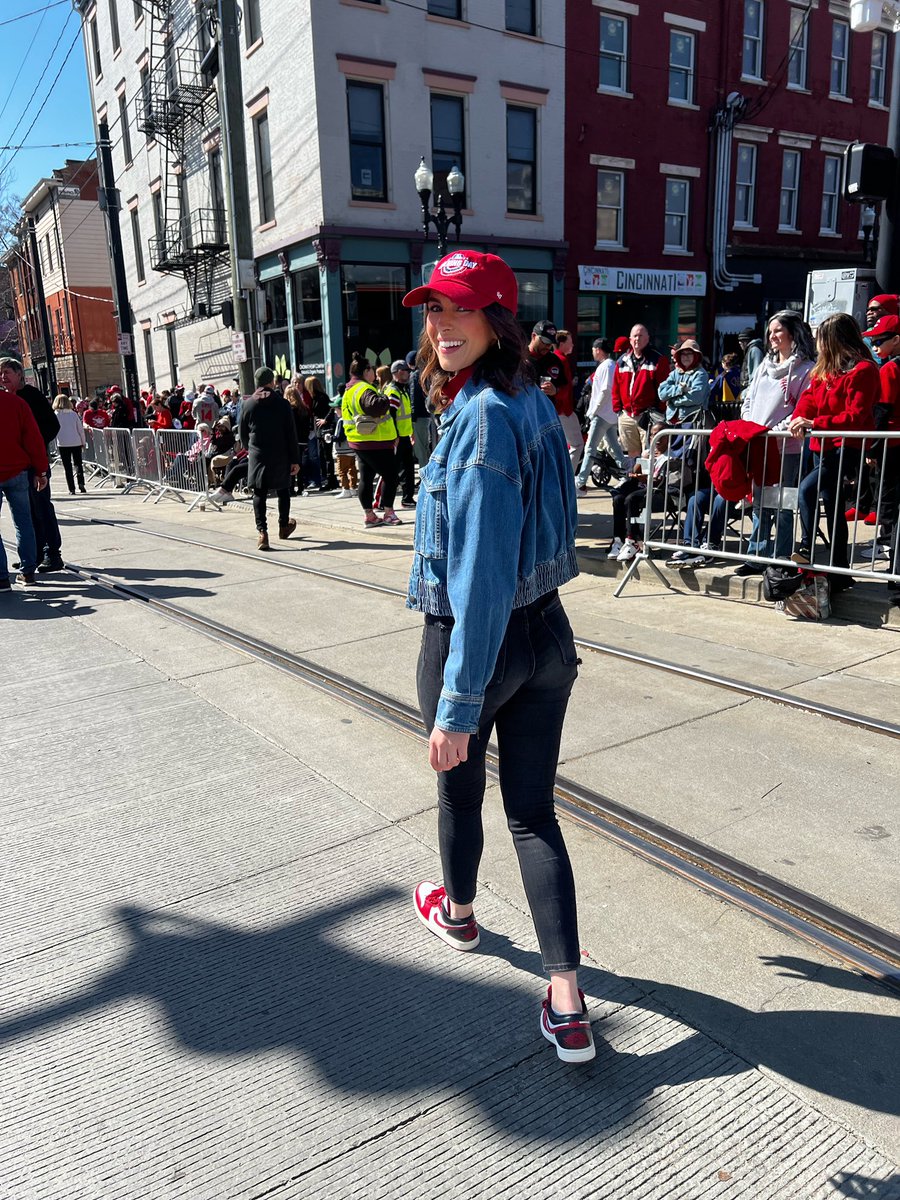
M25 401L14 392L0 391L0 504L6 499L12 512L20 563L16 582L25 584L35 582L37 568L29 470L35 473L35 491L43 491L49 472L47 446ZM10 589L6 548L0 539L0 592Z

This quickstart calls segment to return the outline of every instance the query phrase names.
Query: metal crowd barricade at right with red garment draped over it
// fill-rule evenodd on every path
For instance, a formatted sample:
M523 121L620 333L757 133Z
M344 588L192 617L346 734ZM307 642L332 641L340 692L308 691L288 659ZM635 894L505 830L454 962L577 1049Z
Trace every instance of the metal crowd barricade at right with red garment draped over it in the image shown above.
M704 466L712 432L674 427L650 438L642 460L646 504L632 516L643 526L642 546L616 596L643 564L671 589L654 554L679 551L760 568L805 560L829 575L900 583L895 431L814 430L798 439L769 430L738 456L746 475L755 478L744 502L726 502L713 487ZM811 450L810 438L818 439L820 451ZM613 503L624 503L622 496ZM637 503L640 497L631 502L632 514Z

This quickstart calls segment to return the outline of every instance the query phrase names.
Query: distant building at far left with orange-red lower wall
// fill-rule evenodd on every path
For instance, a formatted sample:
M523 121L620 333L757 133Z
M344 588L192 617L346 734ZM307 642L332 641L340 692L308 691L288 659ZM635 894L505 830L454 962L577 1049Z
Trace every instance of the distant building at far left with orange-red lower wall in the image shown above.
M121 378L103 214L97 204L97 163L70 161L40 180L22 204L17 244L6 253L12 305L26 376L49 390L41 325L40 272L58 385L92 395ZM34 222L37 263L29 222Z

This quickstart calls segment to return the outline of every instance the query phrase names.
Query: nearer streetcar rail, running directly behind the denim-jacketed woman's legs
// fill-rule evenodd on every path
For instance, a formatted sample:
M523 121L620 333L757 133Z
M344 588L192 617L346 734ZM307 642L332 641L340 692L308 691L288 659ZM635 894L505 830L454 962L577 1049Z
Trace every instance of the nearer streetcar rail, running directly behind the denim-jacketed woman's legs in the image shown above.
M391 696L338 672L271 646L240 630L192 613L101 571L68 564L80 578L128 600L146 605L168 619L235 648L370 718L426 742L419 713ZM487 770L498 778L497 755L488 748ZM769 924L828 950L868 976L900 991L900 936L794 888L775 876L724 854L635 809L557 775L557 806L568 818L630 850L647 862L762 917Z

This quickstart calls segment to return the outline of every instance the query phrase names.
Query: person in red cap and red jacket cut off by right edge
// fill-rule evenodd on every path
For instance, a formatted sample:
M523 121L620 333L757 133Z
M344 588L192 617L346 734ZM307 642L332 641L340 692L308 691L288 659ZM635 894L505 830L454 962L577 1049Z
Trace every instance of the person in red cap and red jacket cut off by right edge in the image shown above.
M869 444L869 463L881 468L880 508L881 529L878 540L863 558L889 559L888 570L896 574L898 544L900 527L898 510L900 509L900 317L881 317L872 329L863 335L875 354L881 359L881 397L875 406L874 427L880 431L896 433L896 438L887 438L883 443ZM889 583L892 590L898 584Z

